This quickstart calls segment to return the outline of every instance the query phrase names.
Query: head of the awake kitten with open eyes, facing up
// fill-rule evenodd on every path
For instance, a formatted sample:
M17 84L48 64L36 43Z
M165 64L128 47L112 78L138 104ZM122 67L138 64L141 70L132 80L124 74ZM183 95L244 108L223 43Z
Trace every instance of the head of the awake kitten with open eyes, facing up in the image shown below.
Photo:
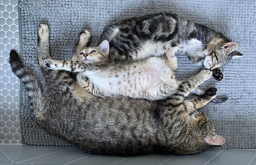
M93 63L106 60L109 53L109 43L104 40L98 47L87 47L83 50L77 50L77 56L83 63Z

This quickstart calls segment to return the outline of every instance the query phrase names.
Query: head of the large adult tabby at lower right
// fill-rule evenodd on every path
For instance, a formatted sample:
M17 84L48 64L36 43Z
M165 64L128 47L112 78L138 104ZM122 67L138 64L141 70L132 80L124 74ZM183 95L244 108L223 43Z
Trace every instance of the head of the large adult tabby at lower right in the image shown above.
M196 139L201 143L202 147L217 147L226 142L223 137L215 133L213 122L207 119L204 113L195 114L191 120L193 120L192 127L194 127Z

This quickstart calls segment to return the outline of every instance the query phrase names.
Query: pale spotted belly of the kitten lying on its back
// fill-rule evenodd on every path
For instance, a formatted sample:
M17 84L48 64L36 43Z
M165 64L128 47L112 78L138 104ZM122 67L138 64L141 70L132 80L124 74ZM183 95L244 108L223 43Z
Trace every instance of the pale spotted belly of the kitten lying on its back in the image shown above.
M132 98L145 97L146 93L157 93L164 84L162 71L169 68L163 59L150 57L142 65L126 67L126 71L100 70L85 71L89 81L105 89L111 95L124 95ZM171 74L169 75L171 78Z

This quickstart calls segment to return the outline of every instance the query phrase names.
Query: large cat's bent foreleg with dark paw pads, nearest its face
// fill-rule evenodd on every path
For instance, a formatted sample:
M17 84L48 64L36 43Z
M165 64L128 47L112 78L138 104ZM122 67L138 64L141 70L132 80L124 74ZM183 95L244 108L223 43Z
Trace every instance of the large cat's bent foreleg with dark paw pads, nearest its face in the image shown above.
M216 97L218 93L218 89L217 88L209 88L205 91L204 94L197 96L196 98L193 98L191 100L185 100L185 104L187 102L191 102L194 105L195 109L201 108L203 106L205 106L209 101L211 101L212 99L214 99Z

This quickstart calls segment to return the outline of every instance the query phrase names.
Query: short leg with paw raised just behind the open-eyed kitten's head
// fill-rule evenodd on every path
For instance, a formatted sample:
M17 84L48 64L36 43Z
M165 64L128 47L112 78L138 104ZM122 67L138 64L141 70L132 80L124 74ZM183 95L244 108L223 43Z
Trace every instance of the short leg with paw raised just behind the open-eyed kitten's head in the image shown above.
M85 30L80 33L78 43L72 54L72 60L77 60L77 57L78 57L77 50L79 49L83 50L86 47L87 43L89 42L90 37L91 37L91 33L88 30Z

